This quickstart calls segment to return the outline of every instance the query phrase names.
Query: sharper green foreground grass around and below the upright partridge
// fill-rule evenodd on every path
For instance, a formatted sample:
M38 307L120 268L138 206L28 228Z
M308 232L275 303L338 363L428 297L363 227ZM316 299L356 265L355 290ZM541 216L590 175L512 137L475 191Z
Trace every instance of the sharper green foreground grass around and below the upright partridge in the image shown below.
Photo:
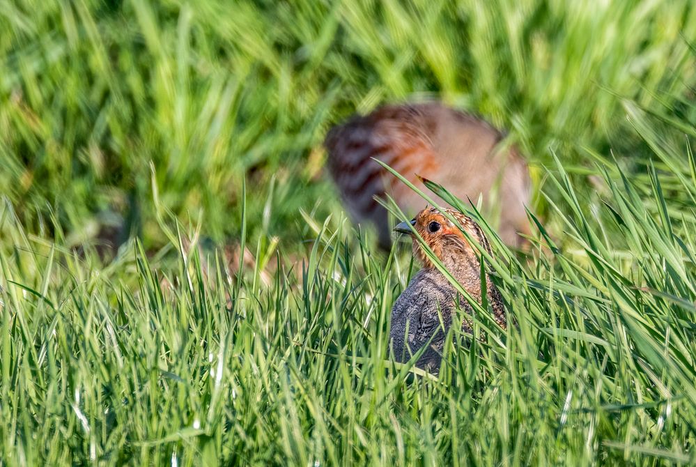
M539 234L525 263L495 246L518 326L477 320L487 341L455 344L439 378L385 352L409 264L326 225L266 286L178 240L96 268L6 206L0 462L693 463L696 217L674 215L654 171L647 197L606 174L588 217L549 172L563 246ZM695 187L692 171L681 213Z

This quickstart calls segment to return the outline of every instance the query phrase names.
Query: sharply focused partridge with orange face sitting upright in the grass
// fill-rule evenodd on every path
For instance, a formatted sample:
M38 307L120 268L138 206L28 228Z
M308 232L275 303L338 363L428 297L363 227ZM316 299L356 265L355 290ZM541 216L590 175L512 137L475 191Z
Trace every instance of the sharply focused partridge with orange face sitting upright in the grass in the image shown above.
M461 229L467 231L488 254L492 254L481 227L471 217L454 209L444 208L443 211L454 217ZM440 370L445 336L454 325L458 307L470 315L472 306L429 259L415 234L433 250L442 266L447 268L463 289L478 303L482 303L481 255L460 227L435 207L426 208L410 222L401 222L394 227L397 233L412 236L413 254L421 261L423 268L412 277L392 307L389 330L391 353L397 362L406 362L429 342L428 349L417 360L416 366L433 374ZM490 281L488 273L486 298L493 310L493 319L502 328L506 328L502 296ZM463 332L473 332L470 319L463 319L461 329Z

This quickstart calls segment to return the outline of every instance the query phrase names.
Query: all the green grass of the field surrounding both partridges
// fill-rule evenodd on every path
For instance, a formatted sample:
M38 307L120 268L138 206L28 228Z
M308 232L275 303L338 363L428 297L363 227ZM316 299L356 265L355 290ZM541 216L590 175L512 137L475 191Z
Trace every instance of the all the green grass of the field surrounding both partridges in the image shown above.
M690 1L10 0L0 30L0 466L696 463ZM528 254L480 220L518 326L478 316L438 378L389 360L418 266L320 148L433 96L535 191Z

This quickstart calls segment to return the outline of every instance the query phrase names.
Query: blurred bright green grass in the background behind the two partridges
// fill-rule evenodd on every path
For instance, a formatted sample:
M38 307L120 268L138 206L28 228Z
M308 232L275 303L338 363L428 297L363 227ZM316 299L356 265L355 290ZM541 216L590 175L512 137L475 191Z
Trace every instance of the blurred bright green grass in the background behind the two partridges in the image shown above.
M104 224L162 245L154 216L302 237L337 206L330 125L440 97L511 132L533 166L610 149L644 170L625 100L693 121L689 1L22 1L0 15L0 184L31 231ZM150 166L151 164L151 166ZM543 171L536 170L536 187ZM152 180L154 174L154 181ZM274 181L274 183L272 183ZM272 192L270 192L273 187ZM270 201L269 201L270 199ZM536 208L544 210L543 203ZM268 209L267 209L268 210ZM122 237L125 235L122 235Z

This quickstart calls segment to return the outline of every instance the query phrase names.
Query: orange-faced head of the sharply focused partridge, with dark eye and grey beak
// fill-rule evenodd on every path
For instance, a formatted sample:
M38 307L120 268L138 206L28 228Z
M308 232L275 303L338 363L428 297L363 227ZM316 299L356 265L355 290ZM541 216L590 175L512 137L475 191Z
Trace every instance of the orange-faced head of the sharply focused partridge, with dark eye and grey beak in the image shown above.
M490 245L488 245L486 236L481 231L481 227L471 217L463 215L454 209L445 209L445 211L454 217L458 224L490 253ZM452 267L460 268L465 263L468 263L471 267L475 267L478 264L479 252L476 247L470 244L459 227L445 217L438 208L425 208L412 220L397 224L394 227L394 231L399 234L412 236L413 254L422 261L423 266L426 268L434 266L422 249L418 239L415 238L414 231L423 238L424 242L433 250L435 256L448 269Z

